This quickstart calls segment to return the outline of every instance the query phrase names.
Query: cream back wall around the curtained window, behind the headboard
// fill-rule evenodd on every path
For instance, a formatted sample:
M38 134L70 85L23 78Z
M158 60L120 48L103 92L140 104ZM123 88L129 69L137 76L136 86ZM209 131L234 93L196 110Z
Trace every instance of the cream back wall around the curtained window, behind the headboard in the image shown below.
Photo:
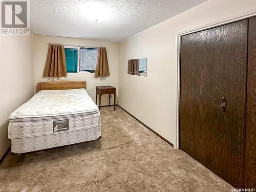
M50 78L43 78L42 73L45 68L45 62L48 51L48 42L54 42L64 45L81 45L87 47L106 47L108 54L110 76L105 78L95 78L94 75L68 75L62 77L60 80L84 80L87 81L87 92L95 100L95 86L111 85L117 87L118 85L118 59L119 59L119 44L110 41L96 41L76 38L55 37L46 35L35 35L35 57L34 57L34 88L36 91L36 84L40 81L53 80ZM56 80L56 79L54 79ZM103 95L101 98L101 105L108 104L108 95ZM113 103L113 95L112 95Z

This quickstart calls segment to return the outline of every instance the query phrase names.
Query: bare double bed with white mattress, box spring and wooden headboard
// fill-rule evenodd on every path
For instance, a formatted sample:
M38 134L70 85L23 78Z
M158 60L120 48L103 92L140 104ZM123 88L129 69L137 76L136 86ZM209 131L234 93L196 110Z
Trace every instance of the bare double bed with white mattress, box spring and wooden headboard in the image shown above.
M100 112L86 91L86 82L39 82L37 90L9 116L12 153L101 138Z

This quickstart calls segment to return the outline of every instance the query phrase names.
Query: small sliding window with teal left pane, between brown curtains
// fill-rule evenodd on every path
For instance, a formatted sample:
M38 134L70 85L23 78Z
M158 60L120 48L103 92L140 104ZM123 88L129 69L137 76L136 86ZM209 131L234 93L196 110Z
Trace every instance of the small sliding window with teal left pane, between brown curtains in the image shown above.
M98 49L65 46L67 72L69 74L95 73Z

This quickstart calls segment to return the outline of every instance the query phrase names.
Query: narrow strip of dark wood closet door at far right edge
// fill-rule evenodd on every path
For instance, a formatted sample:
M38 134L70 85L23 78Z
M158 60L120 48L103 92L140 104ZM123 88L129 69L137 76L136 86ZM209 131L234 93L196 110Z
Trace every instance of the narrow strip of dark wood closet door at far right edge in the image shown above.
M245 188L256 187L256 17L249 18Z

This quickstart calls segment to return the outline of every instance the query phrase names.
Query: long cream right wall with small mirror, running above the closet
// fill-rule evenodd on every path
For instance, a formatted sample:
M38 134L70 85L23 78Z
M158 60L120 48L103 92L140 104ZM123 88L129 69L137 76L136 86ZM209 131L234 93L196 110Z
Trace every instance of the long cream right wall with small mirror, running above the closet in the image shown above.
M255 0L209 0L121 42L118 104L175 144L176 34L256 12ZM127 59L147 57L147 77L127 75Z

